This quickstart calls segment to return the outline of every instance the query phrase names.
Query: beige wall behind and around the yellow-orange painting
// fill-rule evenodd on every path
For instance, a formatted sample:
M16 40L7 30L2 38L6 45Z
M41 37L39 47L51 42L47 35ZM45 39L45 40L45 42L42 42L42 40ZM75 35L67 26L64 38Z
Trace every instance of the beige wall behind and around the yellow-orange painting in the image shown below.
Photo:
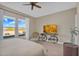
M76 10L70 9L56 14L47 15L36 19L36 30L39 33L43 32L43 25L57 24L59 42L70 42L71 33L70 28L75 25Z

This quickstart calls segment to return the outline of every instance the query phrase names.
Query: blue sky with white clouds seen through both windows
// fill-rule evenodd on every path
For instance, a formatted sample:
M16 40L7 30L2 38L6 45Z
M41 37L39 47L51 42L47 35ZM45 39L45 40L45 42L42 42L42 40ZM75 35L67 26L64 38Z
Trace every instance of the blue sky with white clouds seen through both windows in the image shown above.
M18 20L19 27L25 27L25 21L20 19ZM4 17L3 27L15 27L15 19Z

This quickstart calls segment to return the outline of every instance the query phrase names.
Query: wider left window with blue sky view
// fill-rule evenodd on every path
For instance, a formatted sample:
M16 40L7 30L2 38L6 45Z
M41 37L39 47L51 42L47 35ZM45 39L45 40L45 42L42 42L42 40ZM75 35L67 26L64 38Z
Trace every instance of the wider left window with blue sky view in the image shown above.
M4 16L3 18L3 36L13 37L15 36L15 18Z

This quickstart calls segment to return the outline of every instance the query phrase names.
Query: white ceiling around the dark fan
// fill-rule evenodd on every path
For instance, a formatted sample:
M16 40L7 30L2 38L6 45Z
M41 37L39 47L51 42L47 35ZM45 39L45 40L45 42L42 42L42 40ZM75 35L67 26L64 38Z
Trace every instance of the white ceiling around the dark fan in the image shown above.
M1 2L0 4L33 17L45 16L76 7L75 2L39 2L37 4L42 8L35 7L31 10L31 6L23 5L25 3L28 4L28 2Z

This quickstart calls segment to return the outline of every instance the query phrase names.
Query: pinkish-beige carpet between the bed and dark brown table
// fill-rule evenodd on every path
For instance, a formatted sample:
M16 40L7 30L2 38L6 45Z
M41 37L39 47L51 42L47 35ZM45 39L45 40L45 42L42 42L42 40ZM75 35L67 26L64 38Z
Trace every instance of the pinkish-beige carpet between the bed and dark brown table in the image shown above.
M37 42L45 47L47 56L63 56L63 45L48 42Z

